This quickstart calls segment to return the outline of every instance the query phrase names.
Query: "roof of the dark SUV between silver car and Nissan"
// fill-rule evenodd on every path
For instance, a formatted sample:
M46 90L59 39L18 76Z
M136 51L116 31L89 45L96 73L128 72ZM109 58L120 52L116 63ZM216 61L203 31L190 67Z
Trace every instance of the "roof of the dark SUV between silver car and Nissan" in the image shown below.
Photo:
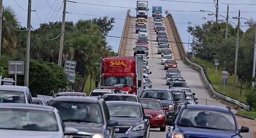
M100 100L103 100L100 96L59 96L54 97L50 101L78 101L78 102L88 102L88 103L99 103ZM49 101L49 103L50 103Z

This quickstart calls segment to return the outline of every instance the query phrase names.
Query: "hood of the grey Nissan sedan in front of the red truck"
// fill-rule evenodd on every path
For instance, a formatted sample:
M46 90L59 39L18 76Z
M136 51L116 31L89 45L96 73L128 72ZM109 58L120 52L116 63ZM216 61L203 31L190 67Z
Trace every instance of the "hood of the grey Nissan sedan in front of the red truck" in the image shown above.
M142 118L135 117L110 117L110 119L118 121L118 126L137 126L144 123Z

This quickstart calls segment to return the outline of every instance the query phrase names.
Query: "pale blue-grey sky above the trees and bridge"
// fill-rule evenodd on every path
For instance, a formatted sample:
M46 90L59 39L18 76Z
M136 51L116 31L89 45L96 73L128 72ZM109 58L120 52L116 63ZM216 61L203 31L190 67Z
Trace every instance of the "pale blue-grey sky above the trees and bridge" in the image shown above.
M22 27L27 27L28 0L0 0L4 6L11 6L17 15ZM152 6L162 6L162 15L165 11L172 14L180 32L184 46L188 51L192 36L187 32L189 25L202 25L207 21L215 21L217 0L148 0L149 16L152 16ZM238 11L241 14L241 29L246 31L248 25L244 24L247 19L256 20L256 0L219 0L218 19L225 20L229 5L229 23L235 27L238 24ZM76 23L79 19L86 20L100 17L114 17L114 28L107 37L108 45L118 52L120 37L123 31L127 10L130 15L136 17L136 0L67 0L65 21ZM63 0L31 0L31 26L36 29L42 23L62 22ZM204 10L205 12L200 12ZM242 19L247 18L247 19ZM65 47L65 45L64 45ZM190 49L189 49L190 50ZM191 51L191 50L190 50Z

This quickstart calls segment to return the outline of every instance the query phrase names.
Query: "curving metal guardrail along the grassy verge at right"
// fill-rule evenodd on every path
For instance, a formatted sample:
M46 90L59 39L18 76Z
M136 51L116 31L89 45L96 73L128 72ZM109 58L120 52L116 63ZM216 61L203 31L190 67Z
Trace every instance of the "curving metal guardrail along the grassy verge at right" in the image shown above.
M227 101L231 101L232 103L237 104L237 105L240 106L240 107L244 107L244 109L246 109L247 111L250 109L249 105L246 105L246 104L244 104L244 103L241 103L241 102L239 102L238 100L235 100L235 99L233 99L233 98L231 98L231 97L228 97L228 96L224 96L223 94L220 94L219 92L215 91L215 90L213 89L212 85L211 85L211 84L209 83L209 81L207 80L206 75L204 74L203 68L202 68L200 65L198 65L198 64L196 64L196 63L193 63L192 61L188 60L187 57L185 57L185 59L188 61L188 63L190 63L190 64L192 64L192 65L194 65L194 66L200 68L200 73L201 73L201 75L203 76L203 80L204 80L204 82L206 83L206 85L207 85L207 87L209 88L209 90L212 91L213 94L215 94L216 96L218 96L218 97L220 97L220 98L223 98L223 99L225 99L225 100L227 100Z

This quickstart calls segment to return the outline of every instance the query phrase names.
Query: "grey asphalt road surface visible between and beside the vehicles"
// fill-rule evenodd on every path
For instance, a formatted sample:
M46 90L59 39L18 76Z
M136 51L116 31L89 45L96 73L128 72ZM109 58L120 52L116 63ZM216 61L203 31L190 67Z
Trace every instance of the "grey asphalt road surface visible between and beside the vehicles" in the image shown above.
M129 35L126 40L126 45L124 48L124 56L133 56L133 47L135 47L135 41L138 37L138 34L135 33L135 17L132 17L129 21L129 29L128 33ZM170 27L168 26L167 22L167 31L170 38L170 41L173 40L173 35L171 32ZM156 33L153 30L153 19L150 17L148 18L148 22L146 25L146 29L149 32L148 39L152 40L149 41L149 71L152 72L152 74L149 74L149 78L152 81L152 87L153 88L168 88L168 86L165 85L165 70L164 65L161 65L161 55L157 54L157 42L156 40ZM172 50L175 52L175 44L171 43ZM226 107L227 105L221 103L220 101L215 100L214 98L210 97L207 89L204 87L204 83L200 77L200 74L198 71L194 70L193 68L185 65L178 55L178 53L174 53L175 59L178 63L178 69L181 71L181 75L186 80L188 86L190 86L193 93L196 93L196 96L199 100L199 104L204 105L212 105L212 106L220 106L220 107ZM244 137L255 137L256 134L256 121L251 119L245 119L243 117L237 116L239 127L241 126L248 126L249 127L249 133L241 133ZM168 127L168 126L167 126ZM168 131L168 129L167 129ZM150 137L166 137L166 132L159 132L159 129L151 129Z

